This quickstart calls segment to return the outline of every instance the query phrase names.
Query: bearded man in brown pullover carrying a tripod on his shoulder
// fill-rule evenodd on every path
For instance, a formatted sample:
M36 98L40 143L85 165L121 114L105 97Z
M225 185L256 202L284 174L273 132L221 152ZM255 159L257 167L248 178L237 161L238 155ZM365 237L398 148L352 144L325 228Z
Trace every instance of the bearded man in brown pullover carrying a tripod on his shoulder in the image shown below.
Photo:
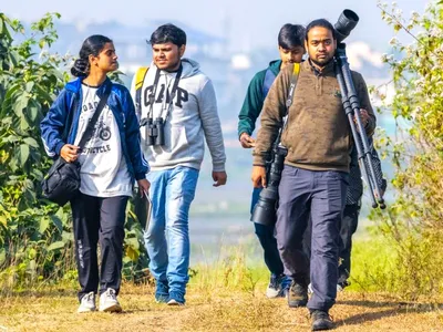
M329 330L329 309L337 295L339 232L346 204L352 135L336 79L336 32L330 22L312 21L306 31L309 59L301 64L293 103L281 144L288 149L279 186L276 238L292 278L289 307L310 310L312 330ZM368 134L375 127L367 85L352 72ZM254 152L253 181L266 186L265 160L286 115L292 66L280 71L261 112L261 128ZM311 217L311 261L302 250L302 236ZM313 294L308 302L308 282Z

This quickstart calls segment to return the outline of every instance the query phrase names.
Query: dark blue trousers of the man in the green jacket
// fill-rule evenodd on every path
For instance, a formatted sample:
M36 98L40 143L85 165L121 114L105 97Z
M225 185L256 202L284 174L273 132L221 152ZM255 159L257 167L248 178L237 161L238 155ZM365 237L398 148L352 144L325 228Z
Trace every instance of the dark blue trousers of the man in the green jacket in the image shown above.
M262 188L254 188L253 199L250 204L250 214L253 214ZM284 272L284 263L280 259L280 253L277 248L277 240L274 237L275 226L266 226L254 222L256 235L264 249L265 263L269 271L275 276L280 276Z

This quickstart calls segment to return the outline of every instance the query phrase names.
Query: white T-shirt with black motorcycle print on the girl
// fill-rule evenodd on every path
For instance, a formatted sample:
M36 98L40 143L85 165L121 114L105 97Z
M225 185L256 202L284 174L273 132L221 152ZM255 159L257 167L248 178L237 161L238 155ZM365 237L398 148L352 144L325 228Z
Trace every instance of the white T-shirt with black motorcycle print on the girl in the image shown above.
M96 91L97 87L82 85L82 113L75 145L79 144L99 105ZM90 139L82 148L79 162L82 166L81 193L97 197L132 196L131 176L123 156L119 125L107 105L103 107Z

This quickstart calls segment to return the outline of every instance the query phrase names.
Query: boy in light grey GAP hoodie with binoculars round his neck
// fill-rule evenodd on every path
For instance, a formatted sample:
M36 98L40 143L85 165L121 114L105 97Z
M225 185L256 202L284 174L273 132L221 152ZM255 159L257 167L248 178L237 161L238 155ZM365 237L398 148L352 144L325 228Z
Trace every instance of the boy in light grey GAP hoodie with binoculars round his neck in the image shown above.
M132 84L141 121L142 149L151 166L147 178L153 210L144 234L155 299L185 303L189 279L188 214L205 152L213 159L214 186L226 184L225 147L212 81L197 62L182 59L186 33L173 25L151 35L153 63L143 83Z

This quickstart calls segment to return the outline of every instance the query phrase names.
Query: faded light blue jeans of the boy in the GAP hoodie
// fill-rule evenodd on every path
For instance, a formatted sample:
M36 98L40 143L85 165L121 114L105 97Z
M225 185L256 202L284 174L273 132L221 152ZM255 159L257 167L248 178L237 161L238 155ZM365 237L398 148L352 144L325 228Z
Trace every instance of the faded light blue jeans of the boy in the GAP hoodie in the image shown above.
M144 234L150 270L155 280L182 295L189 280L188 216L198 170L178 166L147 175L153 209Z

